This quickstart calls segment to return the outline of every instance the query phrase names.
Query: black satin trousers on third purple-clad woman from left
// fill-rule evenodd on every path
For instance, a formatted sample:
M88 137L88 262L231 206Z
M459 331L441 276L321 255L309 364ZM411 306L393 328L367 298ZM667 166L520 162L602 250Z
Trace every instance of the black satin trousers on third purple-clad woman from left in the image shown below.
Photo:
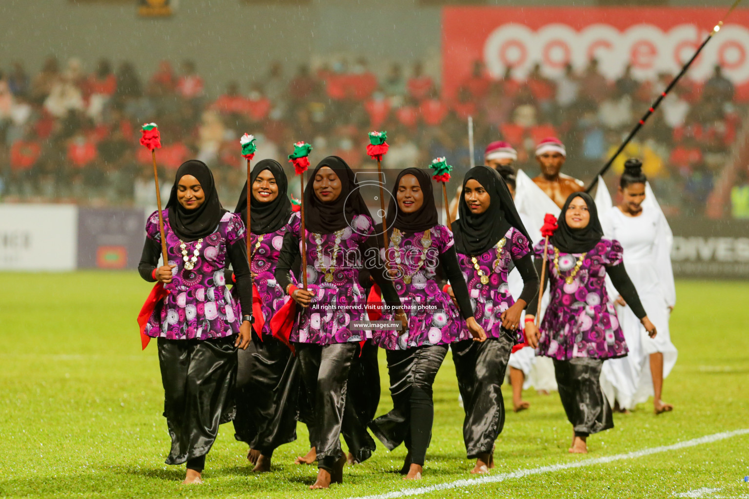
M343 455L341 432L348 392L348 376L359 343L296 343L304 391L312 404L314 429L310 440L318 454L318 468L333 471Z

